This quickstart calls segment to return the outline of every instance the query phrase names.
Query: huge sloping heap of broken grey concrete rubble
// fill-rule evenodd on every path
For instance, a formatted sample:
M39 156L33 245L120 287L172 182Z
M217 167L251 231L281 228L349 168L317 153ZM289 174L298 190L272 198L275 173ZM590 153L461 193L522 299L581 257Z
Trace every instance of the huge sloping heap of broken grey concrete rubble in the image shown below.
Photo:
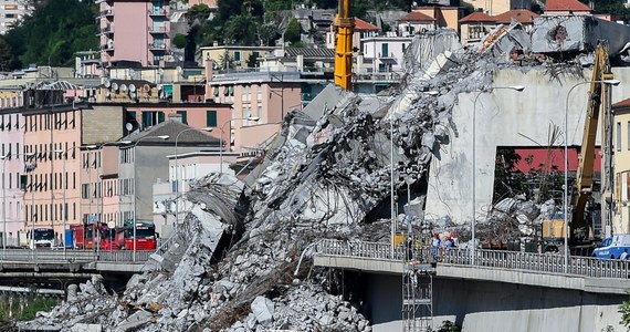
M428 166L459 135L451 121L458 95L489 91L493 73L513 65L462 48L451 31L416 38L406 63L406 82L389 96L329 85L292 113L244 184L217 174L198 181L185 224L120 298L87 283L27 325L370 331L359 304L330 293L325 270L298 264L301 253L322 238L389 241L390 165L396 195L406 196L409 185L413 209L422 210ZM505 201L495 219L508 216L525 229L537 211L523 199Z

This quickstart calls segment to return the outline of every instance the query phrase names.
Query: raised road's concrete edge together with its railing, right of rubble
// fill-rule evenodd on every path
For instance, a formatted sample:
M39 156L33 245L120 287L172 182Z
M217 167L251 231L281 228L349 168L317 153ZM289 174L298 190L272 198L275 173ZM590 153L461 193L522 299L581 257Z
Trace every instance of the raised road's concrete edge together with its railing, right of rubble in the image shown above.
M396 248L392 252L389 243L324 240L315 246L314 255L314 263L321 267L374 273L399 274L405 271L405 249ZM596 293L624 294L630 288L628 261L571 257L567 273L564 273L561 255L475 250L475 264L471 264L470 255L468 250L445 250L437 263L435 276Z

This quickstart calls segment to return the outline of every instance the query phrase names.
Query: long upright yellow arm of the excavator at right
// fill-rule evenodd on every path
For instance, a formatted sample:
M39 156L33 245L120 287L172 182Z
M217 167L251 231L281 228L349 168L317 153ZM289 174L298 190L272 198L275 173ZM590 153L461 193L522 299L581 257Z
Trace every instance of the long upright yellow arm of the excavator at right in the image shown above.
M581 149L579 154L579 165L577 169L575 194L573 195L573 216L570 222L570 239L573 243L585 241L589 238L589 225L585 220L586 205L592 193L592 174L595 163L595 143L597 136L597 126L599 112L602 101L610 98L606 94L610 93L609 87L603 83L605 80L612 80L613 75L610 71L610 61L608 55L608 44L600 42L595 50L595 63L592 68L592 80L590 83L590 93L588 101L588 110L586 114ZM603 144L603 141L602 141ZM566 156L565 156L566 157ZM585 230L579 232L578 230Z

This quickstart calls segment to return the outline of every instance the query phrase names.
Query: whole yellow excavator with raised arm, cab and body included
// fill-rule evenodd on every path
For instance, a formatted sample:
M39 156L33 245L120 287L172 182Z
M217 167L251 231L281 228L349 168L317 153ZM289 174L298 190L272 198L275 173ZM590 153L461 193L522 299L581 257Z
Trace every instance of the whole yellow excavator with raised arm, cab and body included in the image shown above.
M595 245L601 240L599 232L596 232L600 225L595 225L598 220L595 209L596 204L591 199L594 190L594 163L595 163L595 144L597 136L597 127L600 110L610 108L610 87L606 82L613 82L613 74L610 69L610 60L608 53L608 44L600 41L595 49L595 62L592 68L592 77L590 81L589 100L587 114L584 125L584 135L581 148L578 159L578 168L576 174L575 186L573 186L570 195L570 211L568 215L568 246L571 255L590 256ZM602 112L603 124L609 122L608 114ZM606 131L602 131L602 151L611 148L611 142L606 139ZM606 157L605 157L606 159ZM602 195L606 197L606 190L610 190L610 185L606 185L607 170L609 165L602 167ZM608 188L608 189L607 189ZM591 204L589 204L589 201ZM543 220L542 240L545 251L557 251L558 247L564 246L565 227L564 217L556 217Z

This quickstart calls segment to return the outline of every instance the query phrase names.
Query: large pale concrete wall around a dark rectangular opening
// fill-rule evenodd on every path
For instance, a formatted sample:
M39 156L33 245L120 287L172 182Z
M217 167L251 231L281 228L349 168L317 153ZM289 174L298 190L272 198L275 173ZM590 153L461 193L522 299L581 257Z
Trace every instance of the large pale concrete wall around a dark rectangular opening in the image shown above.
M612 103L630 94L630 84L624 83L630 82L630 69L617 68L613 73L621 84L612 89ZM581 80L566 75L554 80L545 75L542 69L497 71L494 86L524 85L525 90L518 93L495 89L479 97L474 176L472 114L477 93L460 94L459 102L452 110L458 135L451 129L451 144L443 146L442 153L431 162L427 218L435 220L450 217L459 224L470 222L473 214L473 177L476 183L474 211L480 217L492 203L496 146L545 145L550 125L564 128L567 94L576 83L589 81L591 73L585 71L584 75ZM588 89L589 84L578 85L568 97L569 145L581 144Z

